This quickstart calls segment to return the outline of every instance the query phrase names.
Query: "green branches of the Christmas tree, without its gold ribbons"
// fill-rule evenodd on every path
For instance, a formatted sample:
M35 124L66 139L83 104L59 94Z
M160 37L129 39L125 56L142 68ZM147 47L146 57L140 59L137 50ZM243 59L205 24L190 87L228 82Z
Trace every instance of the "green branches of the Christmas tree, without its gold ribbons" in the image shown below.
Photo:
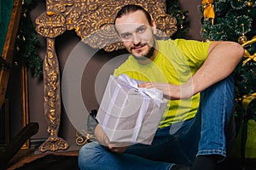
M200 6L200 8L202 8ZM228 40L247 42L256 36L256 2L255 0L218 0L213 1L215 19L213 25L210 19L203 19L201 37L205 40ZM250 54L256 53L256 43L244 47ZM241 59L234 71L236 81L236 117L241 119L248 116L256 121L256 103L253 101L247 107L242 104L244 96L256 92L256 63L253 59L245 65ZM250 110L250 111L249 111Z

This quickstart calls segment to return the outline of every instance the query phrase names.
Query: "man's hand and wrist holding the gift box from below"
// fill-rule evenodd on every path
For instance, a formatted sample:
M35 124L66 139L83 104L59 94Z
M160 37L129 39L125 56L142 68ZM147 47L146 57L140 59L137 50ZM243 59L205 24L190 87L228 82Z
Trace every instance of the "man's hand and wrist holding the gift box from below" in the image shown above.
M96 126L95 135L96 135L97 141L100 144L108 147L110 151L113 151L115 153L119 153L119 154L124 153L127 147L129 146L129 144L124 144L124 143L111 143L108 139L107 134L104 133L101 125L99 124Z

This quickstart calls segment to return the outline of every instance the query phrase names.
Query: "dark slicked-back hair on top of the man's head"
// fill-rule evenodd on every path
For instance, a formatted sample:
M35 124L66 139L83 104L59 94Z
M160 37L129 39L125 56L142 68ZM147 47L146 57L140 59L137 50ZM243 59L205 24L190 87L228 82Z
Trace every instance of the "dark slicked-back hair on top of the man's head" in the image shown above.
M131 14L133 12L136 12L137 10L143 11L143 13L146 15L148 23L151 25L152 19L151 19L150 14L148 14L148 11L146 11L146 9L144 9L143 7L141 7L139 5L135 5L135 4L128 4L128 5L125 5L123 8L121 8L119 10L118 14L116 14L116 16L113 20L113 24L115 25L116 19L121 18L125 14Z

